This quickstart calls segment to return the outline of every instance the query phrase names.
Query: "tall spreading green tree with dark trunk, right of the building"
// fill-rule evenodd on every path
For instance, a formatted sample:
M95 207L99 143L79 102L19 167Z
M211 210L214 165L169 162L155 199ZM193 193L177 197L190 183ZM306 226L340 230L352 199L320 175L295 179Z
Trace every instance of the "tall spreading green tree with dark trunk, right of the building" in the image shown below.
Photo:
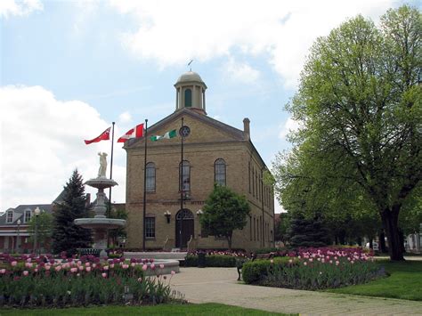
M399 215L421 185L421 34L420 12L402 6L379 28L358 16L319 38L288 104L302 128L276 163L281 199L377 212L392 260L403 260Z

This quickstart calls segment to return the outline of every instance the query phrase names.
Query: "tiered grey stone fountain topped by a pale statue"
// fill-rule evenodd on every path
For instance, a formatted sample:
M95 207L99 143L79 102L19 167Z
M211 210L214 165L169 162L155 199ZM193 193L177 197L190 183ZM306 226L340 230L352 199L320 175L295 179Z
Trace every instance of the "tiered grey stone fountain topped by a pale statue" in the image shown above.
M75 224L86 229L93 231L93 248L101 249L100 256L107 256L107 232L109 230L117 229L126 225L125 220L107 218L106 211L107 206L105 205L106 195L104 189L108 189L118 185L118 182L115 182L112 179L106 177L107 171L107 154L105 152L98 153L100 156L100 169L98 171L98 177L90 179L85 182L86 185L89 185L98 190L97 200L93 211L95 215L93 218L77 218Z

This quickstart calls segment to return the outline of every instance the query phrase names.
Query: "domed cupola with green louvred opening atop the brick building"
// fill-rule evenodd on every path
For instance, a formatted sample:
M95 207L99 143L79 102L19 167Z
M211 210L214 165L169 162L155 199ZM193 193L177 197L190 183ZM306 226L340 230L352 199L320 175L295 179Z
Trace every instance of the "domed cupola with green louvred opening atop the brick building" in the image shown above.
M188 71L174 84L176 89L176 107L178 109L193 109L207 114L205 109L205 91L207 85L196 72Z

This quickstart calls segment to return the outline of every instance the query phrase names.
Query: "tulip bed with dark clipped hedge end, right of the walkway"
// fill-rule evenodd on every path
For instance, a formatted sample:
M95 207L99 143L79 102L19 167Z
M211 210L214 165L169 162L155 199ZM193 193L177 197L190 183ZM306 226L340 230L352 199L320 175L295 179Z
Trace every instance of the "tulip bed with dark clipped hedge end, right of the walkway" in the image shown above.
M308 248L247 262L242 275L248 284L316 290L365 283L383 272L361 248Z

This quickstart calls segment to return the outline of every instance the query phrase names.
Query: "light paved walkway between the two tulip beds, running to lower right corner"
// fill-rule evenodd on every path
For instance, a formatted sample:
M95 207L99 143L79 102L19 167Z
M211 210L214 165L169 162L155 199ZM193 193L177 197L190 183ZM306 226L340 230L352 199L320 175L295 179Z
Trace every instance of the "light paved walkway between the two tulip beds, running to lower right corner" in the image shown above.
M422 315L422 302L257 287L241 284L237 278L235 268L181 268L171 284L191 303L313 315Z

